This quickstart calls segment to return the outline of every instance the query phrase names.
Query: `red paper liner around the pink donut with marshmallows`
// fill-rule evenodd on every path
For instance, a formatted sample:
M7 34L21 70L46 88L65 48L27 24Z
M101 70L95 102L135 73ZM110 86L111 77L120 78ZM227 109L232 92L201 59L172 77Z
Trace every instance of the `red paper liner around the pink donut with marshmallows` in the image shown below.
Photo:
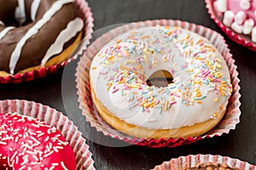
M224 26L222 22L222 15L214 10L213 2L215 0L206 0L208 13L211 15L212 20L217 24L221 31L229 37L232 41L244 46L248 49L256 51L256 43L254 43L250 37L247 37L242 34L237 34L236 31L233 31L231 28Z

